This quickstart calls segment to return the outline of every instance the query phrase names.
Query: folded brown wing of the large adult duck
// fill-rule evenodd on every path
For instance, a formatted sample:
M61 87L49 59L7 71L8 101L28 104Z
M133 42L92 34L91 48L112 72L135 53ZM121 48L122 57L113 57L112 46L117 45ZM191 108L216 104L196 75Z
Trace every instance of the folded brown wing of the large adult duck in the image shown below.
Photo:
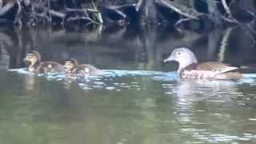
M203 62L198 64L197 70L211 71L214 75L224 74L233 70L238 70L238 67L229 66L221 62Z

